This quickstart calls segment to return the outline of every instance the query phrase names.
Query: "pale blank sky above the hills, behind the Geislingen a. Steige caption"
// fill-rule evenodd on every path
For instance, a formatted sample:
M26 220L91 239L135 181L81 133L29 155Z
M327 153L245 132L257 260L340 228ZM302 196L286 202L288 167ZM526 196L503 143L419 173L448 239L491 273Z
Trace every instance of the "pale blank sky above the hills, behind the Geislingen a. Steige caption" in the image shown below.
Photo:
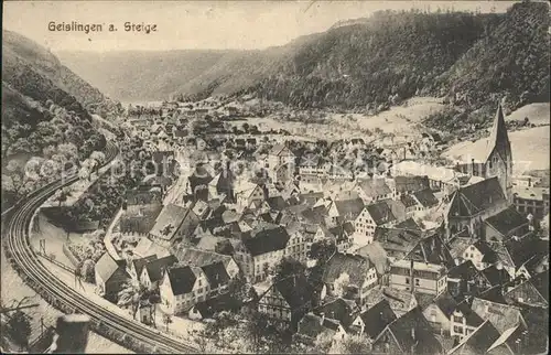
M283 45L338 21L378 10L429 9L504 12L511 1L4 1L3 29L53 52L237 49ZM50 31L48 23L104 24L101 32ZM125 23L156 31L126 32ZM109 32L112 23L117 32Z

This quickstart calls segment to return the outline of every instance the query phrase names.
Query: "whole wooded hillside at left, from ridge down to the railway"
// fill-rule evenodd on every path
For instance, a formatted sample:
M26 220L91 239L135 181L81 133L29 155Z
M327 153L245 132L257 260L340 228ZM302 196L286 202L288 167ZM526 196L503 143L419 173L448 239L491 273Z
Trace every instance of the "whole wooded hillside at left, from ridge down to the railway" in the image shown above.
M120 104L17 33L3 31L2 60L3 211L101 151L106 138L94 128L90 114L116 115Z

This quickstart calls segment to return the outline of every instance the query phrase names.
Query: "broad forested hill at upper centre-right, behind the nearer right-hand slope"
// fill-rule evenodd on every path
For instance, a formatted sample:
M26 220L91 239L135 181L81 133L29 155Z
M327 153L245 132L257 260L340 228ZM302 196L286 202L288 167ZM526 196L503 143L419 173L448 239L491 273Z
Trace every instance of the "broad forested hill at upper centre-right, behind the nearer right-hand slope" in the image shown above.
M255 92L299 107L390 105L433 83L501 18L377 12L365 21L335 26L301 47Z

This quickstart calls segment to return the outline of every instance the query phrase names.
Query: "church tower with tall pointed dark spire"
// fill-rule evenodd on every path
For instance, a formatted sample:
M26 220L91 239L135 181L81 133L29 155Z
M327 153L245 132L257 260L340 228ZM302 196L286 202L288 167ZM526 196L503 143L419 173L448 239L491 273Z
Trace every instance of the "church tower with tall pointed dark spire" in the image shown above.
M486 152L485 178L497 176L506 198L510 201L512 194L512 154L501 105L497 107Z

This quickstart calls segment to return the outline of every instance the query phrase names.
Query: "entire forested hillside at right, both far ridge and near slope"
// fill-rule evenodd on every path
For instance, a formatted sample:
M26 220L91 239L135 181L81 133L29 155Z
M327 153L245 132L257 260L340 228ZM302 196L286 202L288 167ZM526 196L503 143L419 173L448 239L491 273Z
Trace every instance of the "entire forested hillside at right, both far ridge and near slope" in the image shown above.
M507 13L379 12L327 31L255 90L295 106L364 108L421 95L476 109L549 100L549 9Z

